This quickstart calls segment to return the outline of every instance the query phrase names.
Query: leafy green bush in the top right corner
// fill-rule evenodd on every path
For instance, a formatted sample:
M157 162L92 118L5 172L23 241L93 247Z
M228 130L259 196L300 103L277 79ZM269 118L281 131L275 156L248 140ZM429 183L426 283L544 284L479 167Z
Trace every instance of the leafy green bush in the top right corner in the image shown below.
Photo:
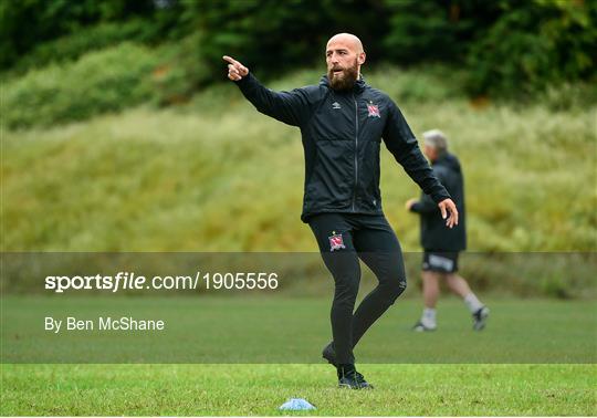
M535 0L512 7L471 46L472 94L532 97L595 74L595 2Z

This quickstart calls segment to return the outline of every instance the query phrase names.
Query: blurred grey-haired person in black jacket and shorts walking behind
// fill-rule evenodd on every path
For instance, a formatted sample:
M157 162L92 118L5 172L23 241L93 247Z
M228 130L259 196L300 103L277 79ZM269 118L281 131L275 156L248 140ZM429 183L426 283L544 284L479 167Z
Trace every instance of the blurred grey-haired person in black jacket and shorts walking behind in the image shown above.
M452 229L443 226L443 219L431 198L422 194L420 200L410 199L406 207L421 217L421 245L425 249L422 261L425 309L415 331L437 328L436 304L439 297L439 281L446 280L448 286L464 300L473 316L473 330L485 326L489 309L484 306L467 281L458 274L458 255L467 249L467 216L464 210L464 179L458 158L448 153L448 139L438 129L423 133L425 155L431 161L433 174L448 189L455 202L459 223Z

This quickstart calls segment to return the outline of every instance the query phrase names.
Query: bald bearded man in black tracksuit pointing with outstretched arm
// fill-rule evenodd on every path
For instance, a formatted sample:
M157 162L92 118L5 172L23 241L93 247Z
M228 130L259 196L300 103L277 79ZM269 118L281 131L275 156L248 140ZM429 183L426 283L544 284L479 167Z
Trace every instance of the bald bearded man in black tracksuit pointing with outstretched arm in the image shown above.
M408 175L431 196L446 226L458 211L433 176L398 106L360 76L365 51L358 38L333 36L327 75L318 85L273 92L230 56L228 77L265 115L301 129L305 151L303 213L335 282L333 342L323 352L336 366L341 387L370 388L355 369L353 347L406 288L400 244L381 210L381 140ZM448 217L449 215L449 217ZM444 226L444 228L446 228ZM379 284L354 311L363 260Z

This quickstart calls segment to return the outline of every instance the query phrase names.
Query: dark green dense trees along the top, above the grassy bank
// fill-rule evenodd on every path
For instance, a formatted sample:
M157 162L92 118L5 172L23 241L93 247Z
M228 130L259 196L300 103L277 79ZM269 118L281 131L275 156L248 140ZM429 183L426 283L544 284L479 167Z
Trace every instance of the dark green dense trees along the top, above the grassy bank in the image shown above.
M470 93L507 95L594 77L596 22L587 0L9 0L0 66L24 72L124 40L180 40L184 55L202 60L202 81L220 75L222 53L276 75L349 31L370 62L443 62L468 70Z

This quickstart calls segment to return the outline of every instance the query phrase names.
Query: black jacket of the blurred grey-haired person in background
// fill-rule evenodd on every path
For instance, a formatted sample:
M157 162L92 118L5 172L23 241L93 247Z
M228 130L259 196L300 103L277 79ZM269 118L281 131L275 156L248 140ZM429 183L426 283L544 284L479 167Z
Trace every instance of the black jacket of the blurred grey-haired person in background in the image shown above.
M421 245L427 251L462 251L467 249L467 213L464 210L464 178L458 158L446 153L431 164L433 174L448 189L458 209L458 224L446 228L438 206L427 195L412 205L411 211L421 217Z

